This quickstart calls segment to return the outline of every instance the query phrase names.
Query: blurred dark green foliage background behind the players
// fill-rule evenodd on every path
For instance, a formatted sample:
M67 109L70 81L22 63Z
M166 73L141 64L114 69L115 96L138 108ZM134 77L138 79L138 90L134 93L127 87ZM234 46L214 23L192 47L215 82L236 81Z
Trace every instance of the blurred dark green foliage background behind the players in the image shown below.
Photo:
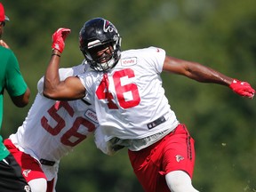
M123 50L164 48L256 87L256 1L252 0L54 0L2 1L11 19L4 40L20 60L32 91L27 108L4 98L4 138L15 132L36 96L37 80L51 55L52 33L71 28L62 67L79 64L78 33L86 20L111 20L123 36ZM256 104L227 87L199 84L163 74L164 88L180 122L196 140L194 186L204 192L256 191ZM127 151L105 156L92 138L60 162L57 191L142 191Z

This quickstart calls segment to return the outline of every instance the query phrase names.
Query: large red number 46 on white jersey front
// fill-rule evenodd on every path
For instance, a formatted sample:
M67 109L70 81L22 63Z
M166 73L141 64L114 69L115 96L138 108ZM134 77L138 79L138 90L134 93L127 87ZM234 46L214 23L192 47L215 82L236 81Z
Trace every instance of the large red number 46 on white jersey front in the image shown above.
M121 78L127 76L128 78L134 77L134 72L131 68L125 68L123 70L116 71L113 75L113 81L115 85L116 98L120 107L122 108L133 108L140 104L140 94L138 86L136 84L121 84ZM98 89L96 90L96 95L99 100L108 100L108 108L117 108L114 103L113 95L108 92L108 75L105 74L100 82ZM132 93L132 100L125 100L124 93Z

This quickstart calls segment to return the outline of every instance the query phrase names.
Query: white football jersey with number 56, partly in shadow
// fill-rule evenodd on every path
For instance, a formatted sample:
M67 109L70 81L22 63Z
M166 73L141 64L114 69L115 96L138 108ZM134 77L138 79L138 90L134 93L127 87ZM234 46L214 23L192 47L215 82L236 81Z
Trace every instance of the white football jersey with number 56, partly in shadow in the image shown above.
M84 72L84 65L61 68L61 79ZM38 82L42 92L44 79ZM81 141L92 135L98 126L92 105L84 100L56 101L37 93L23 124L10 136L12 143L38 161L53 161L53 166L42 166L48 180L58 172L60 158Z

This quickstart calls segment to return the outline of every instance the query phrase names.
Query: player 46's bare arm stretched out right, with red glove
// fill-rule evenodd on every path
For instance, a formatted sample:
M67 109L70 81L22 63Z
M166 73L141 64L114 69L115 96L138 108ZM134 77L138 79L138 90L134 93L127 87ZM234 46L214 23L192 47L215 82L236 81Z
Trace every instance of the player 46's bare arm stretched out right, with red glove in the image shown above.
M237 94L251 99L255 93L255 90L253 90L251 85L247 82L241 82L237 79L225 76L212 68L208 68L196 62L166 56L163 70L182 76L188 76L188 78L202 83L226 85Z

